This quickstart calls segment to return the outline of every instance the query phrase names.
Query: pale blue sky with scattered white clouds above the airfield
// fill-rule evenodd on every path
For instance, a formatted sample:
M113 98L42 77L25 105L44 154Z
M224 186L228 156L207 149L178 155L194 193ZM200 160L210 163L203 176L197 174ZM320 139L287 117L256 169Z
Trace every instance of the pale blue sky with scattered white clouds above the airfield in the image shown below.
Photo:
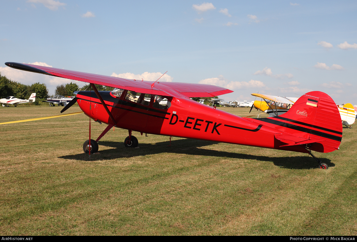
M357 104L356 1L0 1L0 71L50 93L66 79L4 62ZM44 64L46 63L46 64ZM157 79L157 78L156 78ZM83 83L79 83L83 85ZM297 95L298 94L298 95Z

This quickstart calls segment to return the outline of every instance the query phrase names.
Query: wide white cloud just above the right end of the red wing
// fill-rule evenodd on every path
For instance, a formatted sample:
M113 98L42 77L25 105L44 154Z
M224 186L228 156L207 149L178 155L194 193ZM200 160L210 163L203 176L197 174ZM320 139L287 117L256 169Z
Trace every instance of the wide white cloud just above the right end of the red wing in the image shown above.
M213 78L207 78L199 81L200 84L210 84L220 87L225 87L231 90L243 89L243 88L261 88L265 87L265 84L261 81L250 80L249 82L233 82L226 80L222 75Z

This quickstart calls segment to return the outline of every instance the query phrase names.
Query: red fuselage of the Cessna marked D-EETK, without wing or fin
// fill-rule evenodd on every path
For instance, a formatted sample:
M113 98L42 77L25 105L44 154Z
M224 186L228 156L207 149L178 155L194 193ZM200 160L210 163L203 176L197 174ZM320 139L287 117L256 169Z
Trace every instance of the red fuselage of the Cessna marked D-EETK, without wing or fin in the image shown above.
M280 147L285 143L275 139L275 134L286 132L287 128L282 125L261 121L263 119L241 118L189 98L173 97L168 109L157 109L152 105L153 99L149 106L145 106L115 97L109 91L100 91L100 95L115 118L115 127L122 129L308 153L302 146ZM79 92L77 98L87 116L113 124L94 91ZM291 134L295 131L302 136L300 130L289 130ZM305 133L310 135L309 131Z

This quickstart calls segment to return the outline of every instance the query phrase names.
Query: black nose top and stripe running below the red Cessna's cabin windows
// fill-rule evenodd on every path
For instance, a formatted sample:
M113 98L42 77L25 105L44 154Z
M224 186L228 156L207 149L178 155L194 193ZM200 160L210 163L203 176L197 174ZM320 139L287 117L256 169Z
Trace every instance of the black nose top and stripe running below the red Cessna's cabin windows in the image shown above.
M79 94L79 95L82 95L82 96L92 97L92 98L98 99L97 94L95 94L94 91L93 91L93 92L90 92L90 91L81 91L81 92L77 93L77 95L78 95L78 94ZM162 114L168 114L168 115L171 114L171 113L167 113L167 112L165 112L165 111L156 110L156 109L149 108L149 107L146 107L146 106L137 104L137 103L128 102L128 101L125 101L125 100L120 100L119 98L112 97L112 96L110 95L110 91L99 91L99 94L100 94L100 96L103 98L103 100L104 100L104 101L107 101L107 102L117 103L117 104L121 104L121 105L126 105L126 106L129 106L129 107L132 107L132 108L140 108L140 109L152 111L152 112L155 112L155 113L162 113ZM85 99L83 99L83 100L85 100ZM86 101L89 101L89 100L86 100ZM90 101L90 102L93 102L93 101ZM102 104L102 103L99 103L99 104ZM109 105L109 104L107 104L107 105ZM112 105L109 105L109 106L112 106ZM113 107L113 106L112 106L112 107Z

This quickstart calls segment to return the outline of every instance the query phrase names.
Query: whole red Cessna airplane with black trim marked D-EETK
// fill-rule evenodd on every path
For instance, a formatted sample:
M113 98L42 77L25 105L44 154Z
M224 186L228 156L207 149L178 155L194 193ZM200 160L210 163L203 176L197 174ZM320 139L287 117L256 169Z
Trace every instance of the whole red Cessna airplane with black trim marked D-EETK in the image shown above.
M134 130L308 153L317 160L320 168L328 169L328 165L322 163L311 151L327 153L337 150L342 140L341 116L336 104L330 96L319 91L301 96L282 115L241 118L190 99L232 92L222 87L193 83L152 83L15 62L6 62L5 65L91 84L94 91L78 92L61 111L78 103L91 119L108 125L96 140L89 138L83 144L84 152L89 154L98 151L98 140L114 126L129 130L129 136L124 142L126 147L138 145L137 139L131 135ZM97 91L94 84L116 89ZM130 96L130 91L140 93L139 98Z

